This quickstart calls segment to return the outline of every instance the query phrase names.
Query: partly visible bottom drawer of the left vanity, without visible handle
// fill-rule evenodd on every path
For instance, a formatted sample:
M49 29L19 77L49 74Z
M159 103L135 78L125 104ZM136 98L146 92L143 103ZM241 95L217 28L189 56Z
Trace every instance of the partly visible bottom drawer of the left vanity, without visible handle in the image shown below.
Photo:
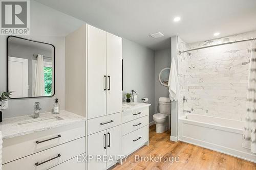
M85 157L86 154L79 155L81 159L83 159L83 156ZM74 157L66 162L63 162L61 164L58 164L57 166L54 166L50 168L51 170L63 170L63 169L75 169L75 170L85 170L86 169L86 162L77 162L77 157Z

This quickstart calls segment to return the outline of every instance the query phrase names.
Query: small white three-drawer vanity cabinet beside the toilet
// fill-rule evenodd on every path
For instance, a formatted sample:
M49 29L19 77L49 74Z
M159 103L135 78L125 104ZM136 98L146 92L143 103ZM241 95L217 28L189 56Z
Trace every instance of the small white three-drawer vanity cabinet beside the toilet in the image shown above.
M123 110L122 112L122 155L129 155L142 147L148 145L148 116L150 104L139 108Z

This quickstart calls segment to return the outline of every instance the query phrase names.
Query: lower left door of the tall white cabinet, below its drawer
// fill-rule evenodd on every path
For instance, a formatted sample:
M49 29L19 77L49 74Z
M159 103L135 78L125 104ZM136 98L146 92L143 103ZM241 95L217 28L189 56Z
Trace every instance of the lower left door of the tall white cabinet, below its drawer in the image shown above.
M105 169L106 162L97 161L97 155L106 155L106 131L101 131L88 136L88 154L93 159L88 162L88 169Z

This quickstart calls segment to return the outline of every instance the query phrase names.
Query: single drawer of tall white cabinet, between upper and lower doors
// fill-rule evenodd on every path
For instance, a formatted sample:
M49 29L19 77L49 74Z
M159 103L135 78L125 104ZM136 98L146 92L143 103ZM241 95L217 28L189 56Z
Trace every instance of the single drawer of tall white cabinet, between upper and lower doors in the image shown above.
M110 114L88 120L88 135L121 124L121 113Z

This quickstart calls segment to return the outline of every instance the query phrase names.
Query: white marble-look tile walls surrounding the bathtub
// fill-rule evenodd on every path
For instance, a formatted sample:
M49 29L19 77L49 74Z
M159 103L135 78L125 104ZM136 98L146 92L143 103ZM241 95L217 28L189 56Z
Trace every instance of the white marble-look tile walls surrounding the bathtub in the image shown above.
M256 38L256 31L186 44L178 38L178 50ZM181 99L178 113L191 113L243 120L251 41L204 48L178 56ZM183 51L183 50L181 50ZM182 96L187 102L182 103Z

